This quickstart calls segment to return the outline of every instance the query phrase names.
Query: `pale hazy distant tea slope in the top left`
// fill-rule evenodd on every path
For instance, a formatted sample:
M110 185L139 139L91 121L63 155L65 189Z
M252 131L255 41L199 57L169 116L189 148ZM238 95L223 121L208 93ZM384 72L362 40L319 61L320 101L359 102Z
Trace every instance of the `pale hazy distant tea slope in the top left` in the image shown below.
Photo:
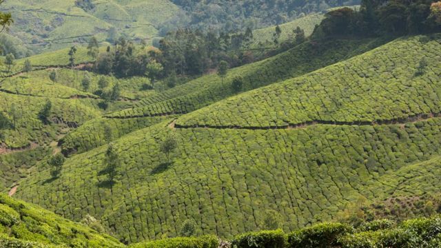
M116 39L154 38L155 26L174 17L178 7L167 0L93 1L93 10L83 10L75 0L7 0L1 7L14 14L11 32L32 50L58 50L72 43L87 43L92 35L105 41L110 30Z

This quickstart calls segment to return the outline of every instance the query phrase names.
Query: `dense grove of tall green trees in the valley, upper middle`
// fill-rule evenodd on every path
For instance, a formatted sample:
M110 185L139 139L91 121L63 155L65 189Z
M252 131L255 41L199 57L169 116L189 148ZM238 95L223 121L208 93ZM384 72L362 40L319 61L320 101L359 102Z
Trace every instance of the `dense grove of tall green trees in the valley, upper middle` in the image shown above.
M274 30L274 48L284 45L291 47L305 40L305 32L300 28L292 30L292 39L279 43L282 30ZM208 30L178 29L169 32L158 43L158 48L145 49L121 38L114 47L107 47L99 53L98 43L92 38L89 54L96 57L93 70L100 74L114 74L118 77L148 76L152 84L157 79L167 79L167 85L176 84L176 76L198 76L210 70L217 70L223 62L233 68L256 61L252 52L253 31L215 32ZM152 85L153 86L153 85Z

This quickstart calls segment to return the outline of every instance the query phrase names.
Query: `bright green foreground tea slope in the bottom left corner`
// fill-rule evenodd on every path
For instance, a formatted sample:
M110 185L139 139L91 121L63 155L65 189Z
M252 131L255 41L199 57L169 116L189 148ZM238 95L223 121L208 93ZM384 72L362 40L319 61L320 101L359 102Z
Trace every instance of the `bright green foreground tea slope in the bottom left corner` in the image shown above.
M123 247L108 236L0 194L1 247Z

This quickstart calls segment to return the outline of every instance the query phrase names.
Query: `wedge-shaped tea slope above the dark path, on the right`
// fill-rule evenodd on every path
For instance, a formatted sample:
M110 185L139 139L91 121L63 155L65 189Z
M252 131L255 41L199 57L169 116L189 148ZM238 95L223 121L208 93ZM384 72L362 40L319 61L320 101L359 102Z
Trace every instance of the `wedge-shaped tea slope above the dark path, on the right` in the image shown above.
M311 123L387 123L438 115L438 38L398 39L311 74L215 103L183 116L176 124L294 127ZM418 74L422 60L427 66Z

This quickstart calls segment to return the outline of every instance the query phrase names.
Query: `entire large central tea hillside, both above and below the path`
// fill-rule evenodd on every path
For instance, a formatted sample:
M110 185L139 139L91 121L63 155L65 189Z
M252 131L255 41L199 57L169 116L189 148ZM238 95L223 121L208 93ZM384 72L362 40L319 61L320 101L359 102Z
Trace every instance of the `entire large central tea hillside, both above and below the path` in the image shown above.
M283 216L283 229L293 230L332 220L360 197L376 201L431 194L441 186L441 118L434 111L439 93L427 89L437 87L441 44L438 37L421 38L398 39L347 62L221 101L221 125L194 126L205 116L216 116L207 113L218 111L210 106L178 117L176 123L165 121L122 136L114 142L121 165L113 184L105 174L103 146L69 158L61 176L50 183L41 183L51 178L50 169L37 165L32 176L21 180L16 196L75 220L97 216L119 238L137 242L176 236L188 218L201 227L201 234L231 237L260 229L267 209ZM424 74L405 77L414 74L412 68L424 55L428 62ZM368 60L376 61L379 69L366 65ZM357 78L353 71L365 77ZM381 83L383 78L391 86ZM325 82L329 82L325 90L316 93ZM351 90L357 82L360 90ZM395 88L407 101L390 100L400 97ZM431 93L422 93L427 91ZM260 101L272 92L278 93L273 94L274 101ZM251 96L256 101L249 101L248 110L268 111L244 115L237 127L230 124L242 119L234 114L242 99ZM328 107L333 99L339 99L339 107ZM363 105L357 99L363 99ZM286 104L280 104L283 101ZM293 103L303 101L314 107L290 114L289 110L298 111ZM390 106L379 108L378 101ZM321 102L327 103L326 109ZM232 114L223 110L224 105ZM358 107L354 120L351 105ZM389 111L392 107L398 110ZM412 112L400 112L407 108ZM333 118L274 126L274 116L292 124L308 116ZM159 147L169 135L176 137L178 150L172 163L165 163Z

